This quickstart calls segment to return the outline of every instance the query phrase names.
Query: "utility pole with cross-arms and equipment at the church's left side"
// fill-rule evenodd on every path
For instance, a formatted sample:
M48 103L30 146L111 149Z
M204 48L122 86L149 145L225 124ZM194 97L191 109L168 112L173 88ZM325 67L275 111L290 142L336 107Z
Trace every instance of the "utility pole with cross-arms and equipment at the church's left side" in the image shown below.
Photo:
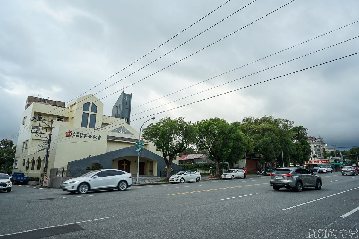
M46 176L46 173L47 173L47 164L48 164L48 157L50 155L50 143L51 143L51 134L52 134L52 123L53 123L53 120L45 120L44 118L32 118L31 121L35 121L35 122L39 122L39 125L38 126L32 126L31 128L31 133L36 135L37 137L40 137L40 138L46 138L47 139L47 145L46 147L45 146L42 146L42 145L38 145L38 146L41 146L43 148L46 149L46 156L45 156L45 163L44 163L44 168L43 168L43 171L42 171L42 176L41 176L41 186L43 186L43 183L44 183L44 177ZM51 122L50 125L48 125L46 122ZM44 123L45 125L47 126L40 126L41 123ZM43 133L42 131L46 129L46 132L47 132L47 129L50 129L50 132L49 133ZM48 137L46 136L48 135ZM41 151L43 149L40 149L38 151Z

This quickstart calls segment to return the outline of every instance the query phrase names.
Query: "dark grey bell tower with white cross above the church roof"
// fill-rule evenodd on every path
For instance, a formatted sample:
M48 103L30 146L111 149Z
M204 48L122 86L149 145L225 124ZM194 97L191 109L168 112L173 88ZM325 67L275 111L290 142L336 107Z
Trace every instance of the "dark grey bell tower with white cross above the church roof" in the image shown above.
M125 91L122 91L120 97L116 101L115 105L112 108L112 117L119 119L125 119L127 124L130 124L131 117L131 102L132 102L132 93L126 94Z

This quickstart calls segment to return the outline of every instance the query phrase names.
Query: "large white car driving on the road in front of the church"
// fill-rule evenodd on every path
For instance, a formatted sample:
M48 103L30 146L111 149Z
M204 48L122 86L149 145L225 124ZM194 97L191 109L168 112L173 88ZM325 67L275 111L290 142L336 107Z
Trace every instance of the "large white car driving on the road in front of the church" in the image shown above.
M118 169L100 169L71 178L62 183L62 190L80 194L96 190L126 190L132 185L132 175Z

